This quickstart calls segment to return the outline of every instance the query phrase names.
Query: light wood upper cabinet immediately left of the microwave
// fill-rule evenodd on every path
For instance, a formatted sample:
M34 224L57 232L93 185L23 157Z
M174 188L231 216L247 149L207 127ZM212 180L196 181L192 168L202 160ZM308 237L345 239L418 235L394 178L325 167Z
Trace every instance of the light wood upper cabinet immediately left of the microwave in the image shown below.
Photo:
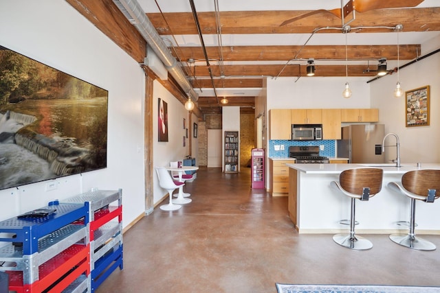
M292 137L290 109L269 110L270 132L269 139L287 139Z

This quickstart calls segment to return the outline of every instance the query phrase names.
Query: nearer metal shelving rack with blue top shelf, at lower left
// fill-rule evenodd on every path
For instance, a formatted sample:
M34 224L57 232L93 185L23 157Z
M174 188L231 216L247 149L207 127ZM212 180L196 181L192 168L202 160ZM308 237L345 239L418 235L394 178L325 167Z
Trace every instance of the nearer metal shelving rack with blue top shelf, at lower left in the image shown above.
M0 242L10 242L0 248L0 270L10 277L9 289L83 292L90 274L89 204L55 201L42 209L56 212L0 222Z

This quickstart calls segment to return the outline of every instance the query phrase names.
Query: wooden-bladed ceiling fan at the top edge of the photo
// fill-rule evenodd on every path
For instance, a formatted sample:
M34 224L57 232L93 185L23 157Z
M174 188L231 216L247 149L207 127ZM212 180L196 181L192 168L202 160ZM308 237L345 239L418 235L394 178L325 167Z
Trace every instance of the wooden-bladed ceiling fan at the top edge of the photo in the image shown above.
M280 26L287 25L289 23L293 23L295 21L299 21L300 19L304 19L305 17L319 14L322 12L331 13L335 16L338 16L342 19L342 26L347 25L344 23L344 18L347 17L351 12L353 12L353 20L354 20L354 12L367 12L370 10L377 10L383 8L407 8L407 7L415 7L419 5L423 0L349 0L346 5L343 5L343 0L341 0L341 8L335 8L332 10L319 9L311 12L307 12L305 14L300 14L298 16L293 17L292 19L287 19L287 21L283 21Z

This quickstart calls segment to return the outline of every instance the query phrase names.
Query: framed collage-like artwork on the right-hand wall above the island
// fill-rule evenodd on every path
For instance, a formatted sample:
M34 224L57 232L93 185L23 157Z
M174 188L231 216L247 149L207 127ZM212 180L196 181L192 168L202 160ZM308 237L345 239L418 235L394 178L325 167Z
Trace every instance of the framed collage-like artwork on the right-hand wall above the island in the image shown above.
M406 127L429 125L429 86L405 92Z

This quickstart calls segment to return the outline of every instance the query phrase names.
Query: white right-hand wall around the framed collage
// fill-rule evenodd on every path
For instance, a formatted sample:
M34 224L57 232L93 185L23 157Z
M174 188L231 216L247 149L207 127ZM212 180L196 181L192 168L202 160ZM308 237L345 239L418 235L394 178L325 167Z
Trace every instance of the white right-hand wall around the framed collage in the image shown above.
M424 47L431 51L440 48L440 38L430 40ZM423 55L430 51L423 51ZM422 56L423 56L422 55ZM406 64L404 62L403 64ZM403 65L401 62L401 65ZM371 106L379 108L380 123L385 124L385 132L395 132L400 139L401 161L405 162L440 162L440 53L420 60L401 69L399 79L404 91L430 86L430 126L406 127L406 99L393 95L397 74L371 82ZM386 145L395 144L393 137ZM395 148L386 148L386 157L395 159Z

